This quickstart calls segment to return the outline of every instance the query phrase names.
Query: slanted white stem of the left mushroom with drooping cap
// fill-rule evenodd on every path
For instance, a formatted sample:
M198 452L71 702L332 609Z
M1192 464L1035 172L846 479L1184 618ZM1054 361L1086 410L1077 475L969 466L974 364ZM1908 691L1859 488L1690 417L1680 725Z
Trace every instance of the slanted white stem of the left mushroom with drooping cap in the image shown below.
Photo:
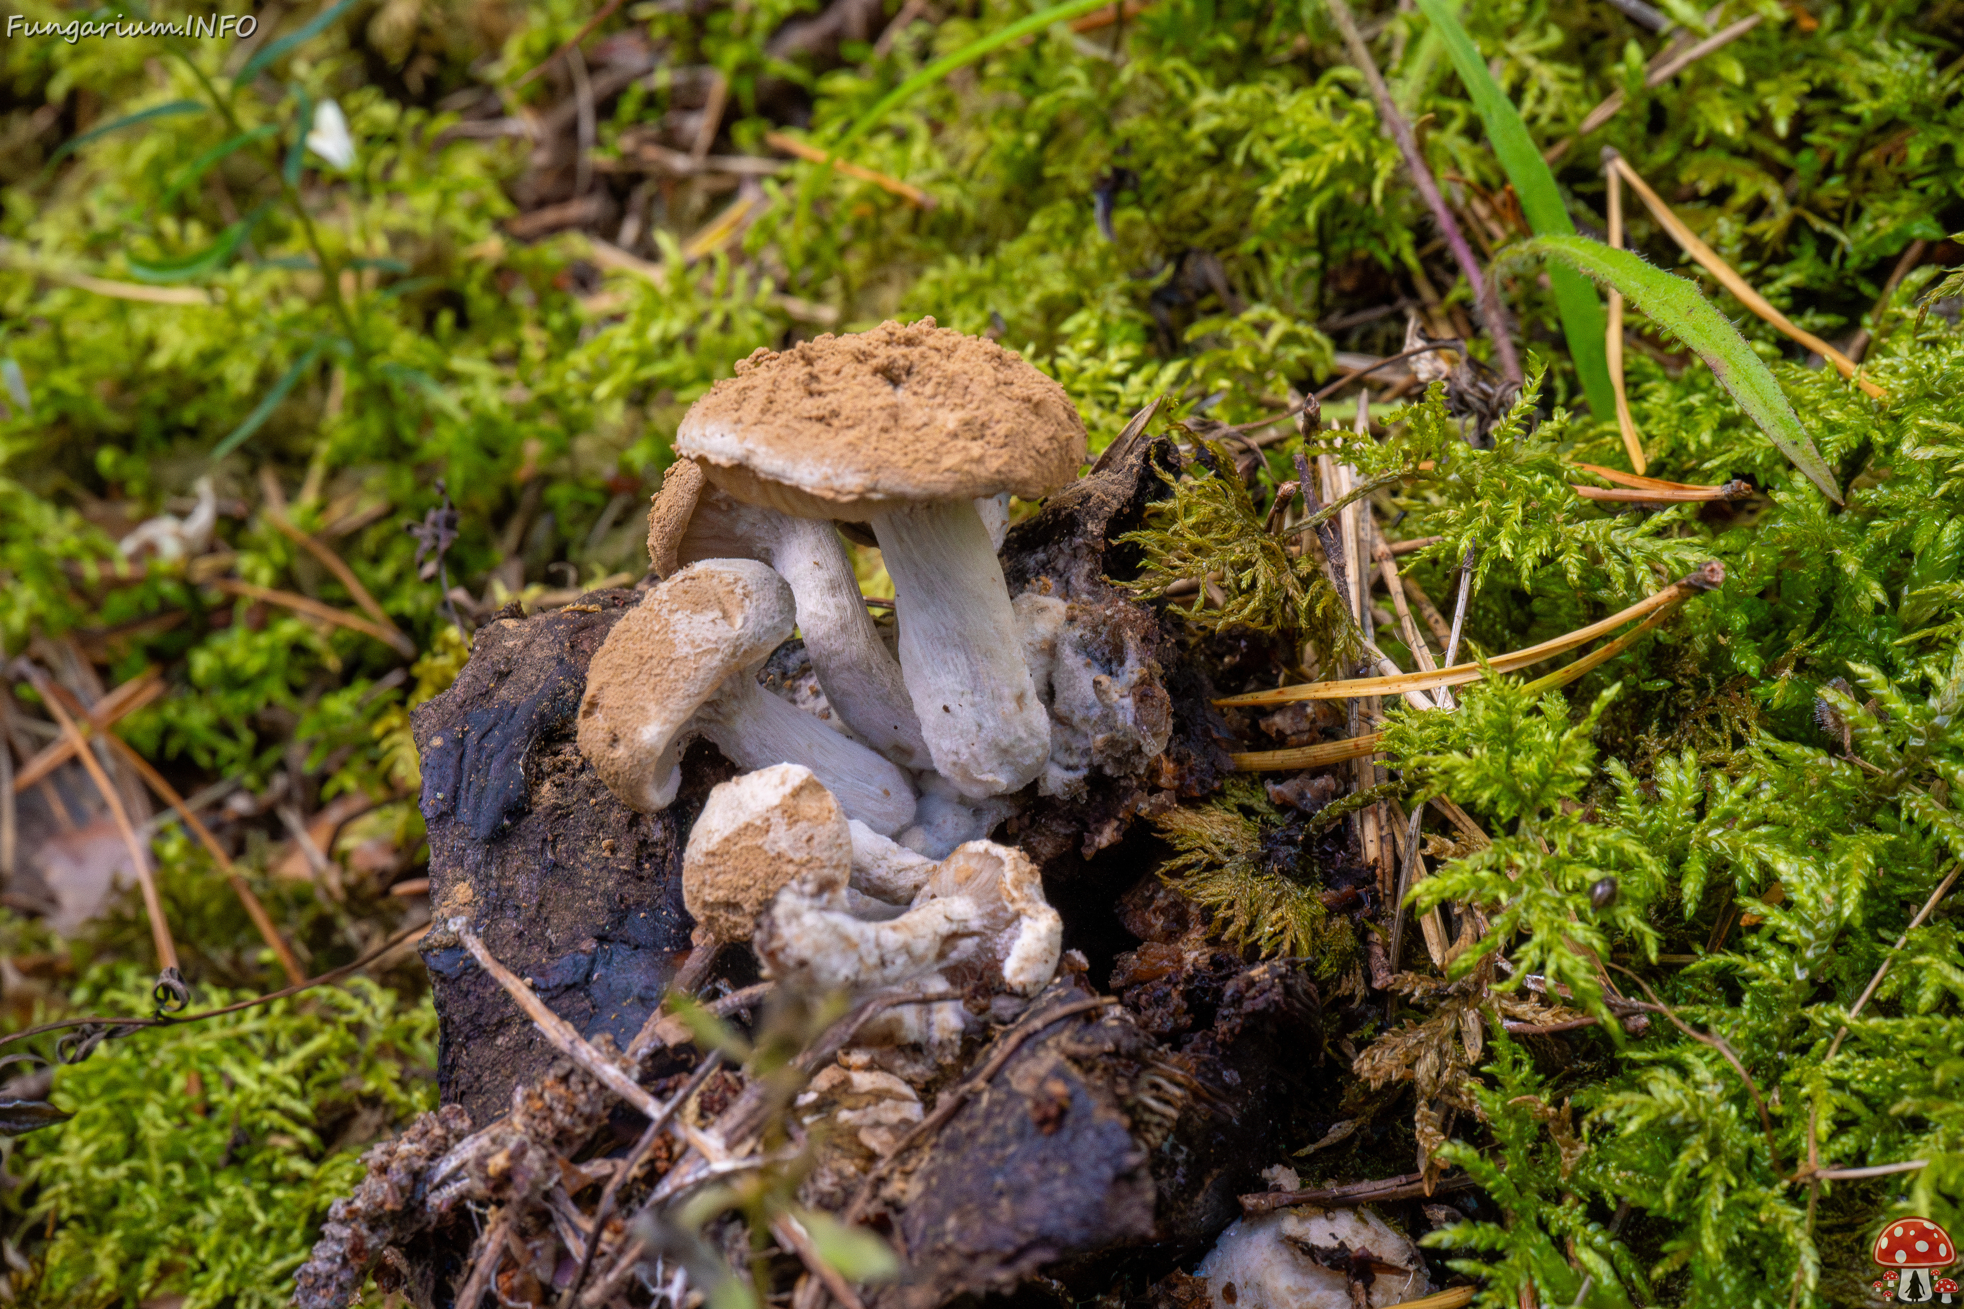
M695 712L695 728L736 767L809 767L848 818L890 836L913 818L913 787L890 759L846 740L736 673Z

